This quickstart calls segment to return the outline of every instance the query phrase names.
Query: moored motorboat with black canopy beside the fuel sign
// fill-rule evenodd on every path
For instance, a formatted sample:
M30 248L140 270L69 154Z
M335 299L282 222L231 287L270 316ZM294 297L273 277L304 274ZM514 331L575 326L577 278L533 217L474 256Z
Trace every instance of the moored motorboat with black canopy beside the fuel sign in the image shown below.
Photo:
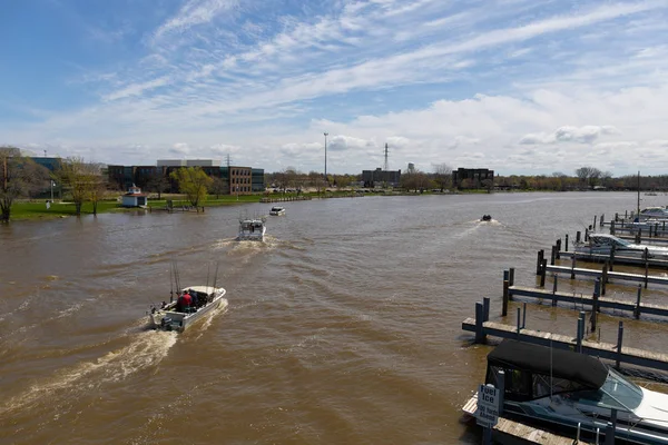
M668 444L668 395L638 386L598 358L505 339L488 355L485 384L500 387L499 370L503 416L592 435L616 418L616 439Z

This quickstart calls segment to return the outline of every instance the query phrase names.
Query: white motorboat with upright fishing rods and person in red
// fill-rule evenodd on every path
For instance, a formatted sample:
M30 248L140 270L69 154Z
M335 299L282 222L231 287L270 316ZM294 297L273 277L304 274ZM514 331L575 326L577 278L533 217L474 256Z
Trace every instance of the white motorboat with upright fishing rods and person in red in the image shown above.
M149 314L150 327L160 330L184 332L197 320L202 319L220 305L227 305L226 290L214 286L190 286L181 289L179 298L170 303L163 303L160 308L153 307ZM189 304L185 305L181 296L190 296Z

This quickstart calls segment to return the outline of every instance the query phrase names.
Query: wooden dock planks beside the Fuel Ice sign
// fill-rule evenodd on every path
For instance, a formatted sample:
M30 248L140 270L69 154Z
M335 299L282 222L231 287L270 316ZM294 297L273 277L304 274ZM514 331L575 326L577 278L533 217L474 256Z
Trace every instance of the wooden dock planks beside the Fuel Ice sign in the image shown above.
M465 415L475 416L478 409L478 395L474 394L464 405ZM492 438L500 444L543 444L543 445L578 445L589 442L577 441L572 437L560 436L547 431L536 428L507 417L499 417L492 428Z

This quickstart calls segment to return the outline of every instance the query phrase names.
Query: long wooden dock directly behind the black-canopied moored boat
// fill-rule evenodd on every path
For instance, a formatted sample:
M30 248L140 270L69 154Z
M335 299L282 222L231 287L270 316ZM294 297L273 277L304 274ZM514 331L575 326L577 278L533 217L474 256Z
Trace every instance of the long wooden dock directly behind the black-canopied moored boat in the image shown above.
M482 310L480 310L480 313L482 322L485 317L483 316ZM621 324L620 328L622 329ZM617 366L619 366L620 363L626 363L629 365L668 372L667 354L654 353L626 346L618 348L618 345L612 345L610 343L597 343L584 339L577 342L573 340L572 337L566 335L525 329L522 327L504 325L495 322L479 322L479 326L477 326L475 318L466 318L464 322L462 322L462 329L470 333L475 333L477 338L484 338L488 335L500 338L513 338L534 345L580 350L587 355L615 360ZM621 345L621 337L619 338L618 344Z

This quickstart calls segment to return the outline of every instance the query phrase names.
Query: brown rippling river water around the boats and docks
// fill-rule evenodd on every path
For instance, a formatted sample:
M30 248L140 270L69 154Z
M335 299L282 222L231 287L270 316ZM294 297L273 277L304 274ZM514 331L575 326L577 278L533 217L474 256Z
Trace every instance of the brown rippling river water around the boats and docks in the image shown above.
M500 320L503 269L532 286L538 249L635 206L632 192L286 202L264 245L234 240L261 204L0 226L0 443L480 443L461 407L492 346L462 320L482 297ZM183 334L147 330L173 261L183 287L218 265L229 304ZM622 294L635 287L609 287ZM625 345L668 353L668 324L601 318L603 342L622 319ZM574 336L576 319L528 305L528 328Z

